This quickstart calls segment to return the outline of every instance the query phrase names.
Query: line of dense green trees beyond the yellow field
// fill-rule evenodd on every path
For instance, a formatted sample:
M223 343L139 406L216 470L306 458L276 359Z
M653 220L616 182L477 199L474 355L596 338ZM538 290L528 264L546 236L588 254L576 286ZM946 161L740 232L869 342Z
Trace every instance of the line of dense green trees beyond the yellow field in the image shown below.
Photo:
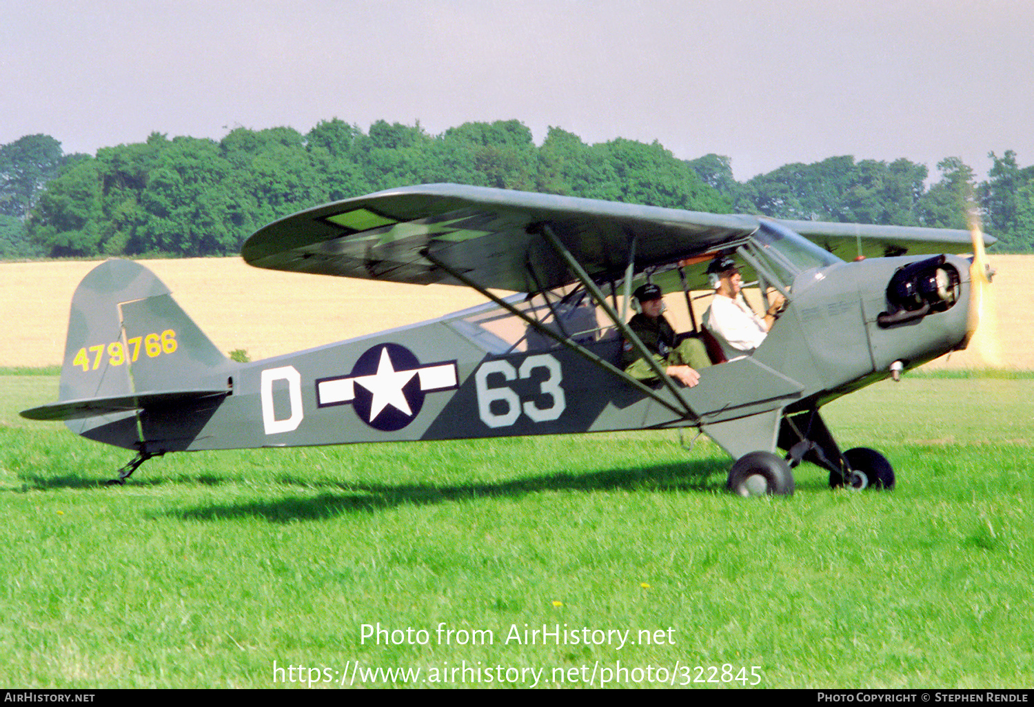
M551 127L541 146L516 120L419 124L341 120L309 132L238 127L222 140L155 132L69 154L50 135L0 146L0 258L229 255L255 229L327 202L395 186L455 182L712 213L966 227L975 206L1000 251L1034 249L1034 166L991 154L987 179L955 157L927 168L830 157L746 182L721 155L680 160L660 143L586 145Z

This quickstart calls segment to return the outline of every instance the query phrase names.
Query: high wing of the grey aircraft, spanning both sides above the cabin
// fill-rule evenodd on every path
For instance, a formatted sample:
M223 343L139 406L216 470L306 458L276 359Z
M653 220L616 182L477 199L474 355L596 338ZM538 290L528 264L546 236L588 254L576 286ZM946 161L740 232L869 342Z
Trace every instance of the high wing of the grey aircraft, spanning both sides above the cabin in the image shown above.
M845 259L969 252L970 234L816 221L786 225ZM741 244L760 219L509 189L428 184L389 189L287 216L245 242L260 268L396 282L465 284L535 293L574 282L544 225L589 277L618 280L636 269L689 262L691 287L705 286L707 256ZM987 239L989 244L994 239ZM916 245L918 243L918 245Z

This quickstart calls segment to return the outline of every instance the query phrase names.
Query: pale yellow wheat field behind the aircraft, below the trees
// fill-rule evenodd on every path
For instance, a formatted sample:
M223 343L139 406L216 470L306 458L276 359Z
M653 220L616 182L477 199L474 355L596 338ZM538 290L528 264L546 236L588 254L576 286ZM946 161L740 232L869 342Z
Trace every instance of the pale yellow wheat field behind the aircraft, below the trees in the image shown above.
M169 285L219 348L243 348L252 360L422 321L485 301L465 287L281 273L251 268L240 257L142 263ZM970 347L927 366L1034 370L1034 311L1025 286L1034 275L1034 255L998 255L991 263L998 274ZM72 293L96 265L0 264L0 366L61 363ZM706 306L706 300L698 302ZM685 310L681 296L671 298L669 316L676 329L687 326Z

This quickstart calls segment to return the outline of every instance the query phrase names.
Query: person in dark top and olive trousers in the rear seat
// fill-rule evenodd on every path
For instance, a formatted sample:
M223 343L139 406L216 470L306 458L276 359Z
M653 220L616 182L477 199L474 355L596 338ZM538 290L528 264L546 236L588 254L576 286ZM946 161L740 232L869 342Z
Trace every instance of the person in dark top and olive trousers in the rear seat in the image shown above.
M665 372L683 386L694 387L700 380L697 372L710 366L710 359L704 345L696 338L686 338L681 342L675 330L661 312L664 300L661 288L652 283L641 285L633 293L639 301L640 312L629 319L629 328L653 355ZM632 342L626 341L621 352L625 372L639 380L657 378L657 374L646 360L640 356Z

